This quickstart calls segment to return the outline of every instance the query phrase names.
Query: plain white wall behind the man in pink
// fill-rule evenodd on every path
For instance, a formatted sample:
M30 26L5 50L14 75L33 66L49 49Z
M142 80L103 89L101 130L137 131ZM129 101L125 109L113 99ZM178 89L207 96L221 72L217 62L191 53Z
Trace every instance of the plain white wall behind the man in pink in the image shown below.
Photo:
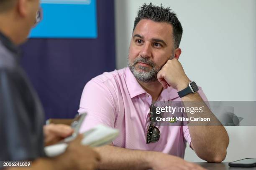
M145 2L178 14L184 29L179 60L208 100L256 100L256 0L115 0L118 69L127 65L133 21ZM225 128L225 161L256 158L256 126ZM185 160L202 161L190 148Z

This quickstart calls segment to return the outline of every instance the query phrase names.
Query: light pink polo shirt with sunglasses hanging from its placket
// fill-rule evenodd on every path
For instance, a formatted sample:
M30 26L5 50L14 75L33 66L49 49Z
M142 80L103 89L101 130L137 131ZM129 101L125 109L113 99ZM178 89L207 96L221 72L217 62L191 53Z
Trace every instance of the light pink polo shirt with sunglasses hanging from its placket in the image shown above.
M207 101L201 88L198 92ZM172 87L164 89L158 99L168 100L181 100ZM88 115L80 132L103 124L120 130L120 135L113 140L114 146L159 151L184 158L186 142L191 143L187 126L157 126L161 132L159 141L146 144L151 103L151 95L141 87L128 67L104 72L84 87L78 112Z

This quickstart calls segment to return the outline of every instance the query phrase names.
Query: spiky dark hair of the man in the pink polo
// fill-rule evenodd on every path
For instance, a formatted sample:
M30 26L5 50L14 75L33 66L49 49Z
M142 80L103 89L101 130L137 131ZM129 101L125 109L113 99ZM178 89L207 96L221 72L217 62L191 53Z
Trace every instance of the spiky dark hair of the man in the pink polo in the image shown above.
M176 15L176 13L171 11L170 7L163 7L162 4L160 6L156 6L152 5L152 3L149 3L148 5L144 3L138 10L138 15L134 21L133 31L138 22L143 19L170 23L173 28L174 47L178 48L182 38L183 29Z

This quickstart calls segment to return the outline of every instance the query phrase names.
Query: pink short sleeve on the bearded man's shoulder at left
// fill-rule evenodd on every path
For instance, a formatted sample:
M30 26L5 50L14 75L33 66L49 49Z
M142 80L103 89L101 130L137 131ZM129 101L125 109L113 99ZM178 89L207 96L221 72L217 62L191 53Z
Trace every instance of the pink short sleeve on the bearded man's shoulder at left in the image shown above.
M105 125L114 128L116 107L115 97L110 87L104 82L90 80L84 87L79 105L79 114L87 112L80 133L95 127Z

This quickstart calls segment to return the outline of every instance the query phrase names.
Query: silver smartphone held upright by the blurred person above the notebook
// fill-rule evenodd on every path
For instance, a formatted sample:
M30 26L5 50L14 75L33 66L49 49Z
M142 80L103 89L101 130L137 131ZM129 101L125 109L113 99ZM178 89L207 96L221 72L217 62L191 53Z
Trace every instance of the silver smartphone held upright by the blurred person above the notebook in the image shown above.
M86 115L87 113L83 113L74 118L73 122L70 125L71 128L74 129L74 133L72 133L72 135L64 139L65 143L69 143L70 141L74 140L77 137L77 135L79 134L80 127Z

